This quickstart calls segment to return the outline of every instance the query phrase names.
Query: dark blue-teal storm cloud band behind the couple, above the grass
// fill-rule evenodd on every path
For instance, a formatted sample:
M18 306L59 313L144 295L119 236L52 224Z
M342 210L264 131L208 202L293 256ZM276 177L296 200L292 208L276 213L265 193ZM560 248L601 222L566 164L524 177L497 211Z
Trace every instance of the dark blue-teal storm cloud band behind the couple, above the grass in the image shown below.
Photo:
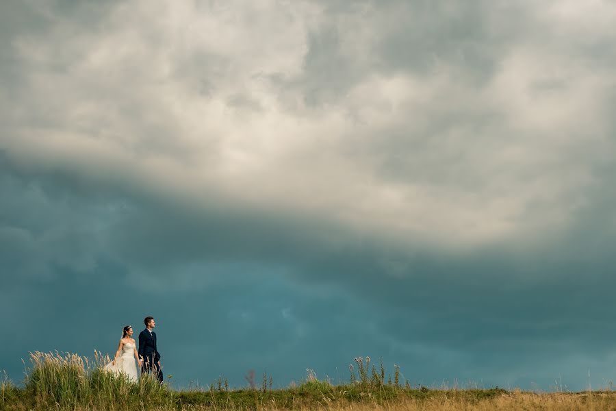
M287 231L255 218L197 218L4 171L3 192L39 216L30 242L9 238L3 224L11 245L2 247L3 284L13 284L3 301L15 313L5 325L21 336L3 356L14 378L27 351L111 351L113 330L138 327L144 310L159 319L168 372L181 384L228 375L241 385L253 368L279 384L305 368L346 379L346 363L362 353L401 364L422 384L548 388L566 375L582 387L587 366L610 376L600 358L615 337L606 326L613 258L604 249L585 259L577 232L524 256L505 247L466 257L404 252L352 236L344 249L324 249L305 238L309 223ZM26 201L33 191L38 203ZM3 208L3 221L31 233L36 219L21 213ZM64 229L52 236L57 225ZM563 365L574 354L586 362Z

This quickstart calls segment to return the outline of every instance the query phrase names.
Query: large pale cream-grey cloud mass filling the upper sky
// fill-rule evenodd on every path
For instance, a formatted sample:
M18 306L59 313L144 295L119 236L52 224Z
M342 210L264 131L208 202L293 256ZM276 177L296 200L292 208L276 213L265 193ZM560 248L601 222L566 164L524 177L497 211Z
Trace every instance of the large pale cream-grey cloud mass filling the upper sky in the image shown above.
M421 16L376 3L131 1L94 25L49 8L46 31L14 38L20 87L0 100L0 149L166 198L325 217L400 242L559 232L591 201L595 160L614 160L604 107L616 76L591 47L613 39L614 5L528 3L526 33L498 38L504 11L478 4L478 16ZM456 43L438 25L396 34L394 16L469 32L478 21L492 37ZM428 69L383 57L392 36L435 47L417 52L432 56ZM473 69L491 73L477 82Z

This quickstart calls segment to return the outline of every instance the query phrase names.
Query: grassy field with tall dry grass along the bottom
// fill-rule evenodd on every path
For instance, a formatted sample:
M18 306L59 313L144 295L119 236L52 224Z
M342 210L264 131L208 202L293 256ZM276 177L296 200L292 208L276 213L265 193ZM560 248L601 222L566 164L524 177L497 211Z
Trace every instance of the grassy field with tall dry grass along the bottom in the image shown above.
M0 384L0 410L616 410L616 393L525 393L520 390L428 389L389 377L383 366L359 359L348 384L332 385L309 372L298 386L272 389L260 384L231 390L219 379L208 390L171 390L155 380L133 384L101 370L106 358L93 361L73 354L33 353L23 387Z

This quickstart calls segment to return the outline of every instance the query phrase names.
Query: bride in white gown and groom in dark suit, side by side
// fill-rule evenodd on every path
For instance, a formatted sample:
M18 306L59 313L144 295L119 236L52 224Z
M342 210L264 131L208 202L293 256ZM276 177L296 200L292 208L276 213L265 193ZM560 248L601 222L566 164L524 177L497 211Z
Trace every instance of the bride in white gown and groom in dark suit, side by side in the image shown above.
M156 348L156 333L154 327L156 323L151 316L147 316L143 322L146 329L139 334L139 349L133 340L133 327L127 325L122 330L122 339L118 345L118 351L114 360L105 365L105 369L114 373L123 373L132 382L137 382L137 366L135 360L141 366L141 373L153 373L156 379L162 384L162 371L160 366L160 354ZM134 357L134 359L133 359Z

